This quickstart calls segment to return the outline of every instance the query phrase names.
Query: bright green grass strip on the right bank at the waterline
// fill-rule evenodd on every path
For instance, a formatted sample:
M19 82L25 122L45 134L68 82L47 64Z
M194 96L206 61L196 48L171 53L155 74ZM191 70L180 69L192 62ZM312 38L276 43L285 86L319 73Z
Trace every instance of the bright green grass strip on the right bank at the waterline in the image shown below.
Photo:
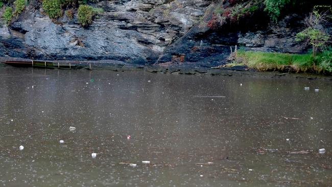
M296 72L332 73L332 48L318 54L288 54L239 50L237 63L242 63L258 71L282 71L292 66Z

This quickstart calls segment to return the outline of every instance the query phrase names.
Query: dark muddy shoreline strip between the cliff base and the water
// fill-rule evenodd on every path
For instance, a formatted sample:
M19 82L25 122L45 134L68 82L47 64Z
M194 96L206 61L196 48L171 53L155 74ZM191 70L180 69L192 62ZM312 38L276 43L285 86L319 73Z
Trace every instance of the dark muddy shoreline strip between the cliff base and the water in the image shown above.
M0 57L0 62L6 60L23 61L29 59L22 58L7 58ZM249 77L267 77L267 78L283 78L290 77L296 79L325 79L332 81L332 75L321 75L313 73L292 73L292 72L259 72L256 69L248 68L245 65L238 65L232 67L213 68L204 63L160 63L154 65L139 65L131 64L116 60L100 60L100 61L69 61L69 60L53 60L48 62L56 63L72 63L75 64L75 69L93 70L109 70L114 72L132 72L144 71L155 74L180 74L180 75L210 75L210 76L249 76ZM91 65L91 69L89 69ZM8 66L0 63L0 66ZM30 67L26 67L30 68Z

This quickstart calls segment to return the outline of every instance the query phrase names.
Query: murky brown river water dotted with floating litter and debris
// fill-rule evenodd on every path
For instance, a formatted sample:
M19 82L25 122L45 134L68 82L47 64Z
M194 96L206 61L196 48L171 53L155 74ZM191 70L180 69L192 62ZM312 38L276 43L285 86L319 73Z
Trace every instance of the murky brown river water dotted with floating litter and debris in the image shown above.
M329 80L7 66L0 82L0 185L332 186Z

